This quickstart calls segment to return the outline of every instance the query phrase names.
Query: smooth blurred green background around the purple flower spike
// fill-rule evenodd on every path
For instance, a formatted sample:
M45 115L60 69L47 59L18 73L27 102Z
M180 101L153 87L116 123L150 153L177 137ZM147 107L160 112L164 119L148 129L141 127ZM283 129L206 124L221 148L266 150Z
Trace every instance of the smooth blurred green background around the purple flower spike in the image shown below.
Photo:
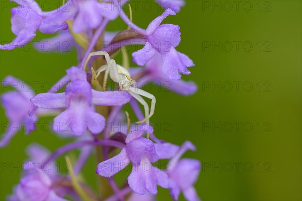
M15 37L10 8L3 2L8 1L1 1L2 44ZM164 23L180 26L177 50L196 64L183 78L194 80L199 90L183 97L152 86L149 92L157 97L152 118L156 135L175 144L190 140L196 145L197 151L185 156L202 161L195 185L202 200L301 200L301 1L186 2ZM59 2L48 3L55 9ZM42 8L49 10L47 5ZM133 21L146 28L162 11L153 1L138 4ZM122 29L126 26L120 19L108 27ZM34 40L49 37L38 33ZM60 54L15 49L1 51L0 64L1 80L12 74L29 82L54 83L77 59L74 50ZM47 87L38 85L36 92ZM0 150L1 163L22 163L32 142L55 150L67 141L50 132L20 132ZM20 174L17 168L2 167L0 200L12 192ZM93 158L85 177L95 186ZM171 199L160 187L158 198Z

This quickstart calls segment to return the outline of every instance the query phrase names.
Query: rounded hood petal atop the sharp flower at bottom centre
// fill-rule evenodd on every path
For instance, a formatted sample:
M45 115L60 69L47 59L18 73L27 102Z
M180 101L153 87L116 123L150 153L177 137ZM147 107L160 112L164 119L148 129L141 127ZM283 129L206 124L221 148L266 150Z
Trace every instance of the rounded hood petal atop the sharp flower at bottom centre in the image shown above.
M126 151L134 166L140 165L143 155L145 155L151 162L156 162L159 159L153 142L142 137L126 144Z

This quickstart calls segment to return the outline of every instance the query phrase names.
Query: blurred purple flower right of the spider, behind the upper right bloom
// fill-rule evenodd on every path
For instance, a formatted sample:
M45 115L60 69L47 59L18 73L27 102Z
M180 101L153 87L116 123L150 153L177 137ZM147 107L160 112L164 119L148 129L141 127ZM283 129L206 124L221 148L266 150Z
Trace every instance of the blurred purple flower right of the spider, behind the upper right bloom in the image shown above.
M162 72L161 66L163 59L160 53L146 63L145 68L130 69L131 75L146 72L146 75L137 81L137 87L141 88L145 83L152 81L155 84L161 85L166 89L172 90L181 95L191 95L196 92L197 85L193 81L171 80Z

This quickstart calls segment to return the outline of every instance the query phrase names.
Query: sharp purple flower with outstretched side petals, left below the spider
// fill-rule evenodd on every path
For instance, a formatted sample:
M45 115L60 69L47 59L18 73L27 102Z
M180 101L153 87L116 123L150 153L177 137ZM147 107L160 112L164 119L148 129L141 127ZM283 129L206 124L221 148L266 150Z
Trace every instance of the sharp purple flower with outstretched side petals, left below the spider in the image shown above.
M64 93L40 93L31 99L39 108L67 108L54 118L54 129L62 132L70 126L74 135L82 135L87 128L98 134L103 130L105 118L94 112L92 105L122 106L129 102L125 91L96 91L87 81L84 70L71 67L66 70L71 82Z

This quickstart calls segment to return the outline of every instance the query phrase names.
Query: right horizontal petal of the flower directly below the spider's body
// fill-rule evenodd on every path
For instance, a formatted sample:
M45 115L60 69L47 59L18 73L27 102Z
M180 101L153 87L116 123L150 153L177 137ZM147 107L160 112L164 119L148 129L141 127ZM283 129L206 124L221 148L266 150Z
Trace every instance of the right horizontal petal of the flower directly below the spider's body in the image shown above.
M92 89L92 104L99 106L122 106L130 101L126 91L97 91Z

